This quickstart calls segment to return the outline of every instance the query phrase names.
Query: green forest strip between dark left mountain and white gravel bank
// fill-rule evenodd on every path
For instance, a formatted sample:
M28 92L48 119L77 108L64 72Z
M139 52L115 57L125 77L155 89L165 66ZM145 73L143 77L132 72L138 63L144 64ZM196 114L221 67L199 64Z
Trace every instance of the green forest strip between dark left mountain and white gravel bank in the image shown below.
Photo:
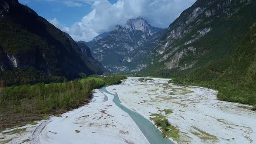
M92 90L121 83L124 76L107 75L63 83L37 83L0 88L0 130L57 115L89 102Z

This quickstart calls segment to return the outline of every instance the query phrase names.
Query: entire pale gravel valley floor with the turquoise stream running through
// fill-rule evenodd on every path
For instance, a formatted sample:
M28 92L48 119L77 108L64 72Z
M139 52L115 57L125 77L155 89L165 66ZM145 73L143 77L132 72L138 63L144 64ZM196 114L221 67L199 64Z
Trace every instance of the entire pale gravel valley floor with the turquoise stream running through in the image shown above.
M153 78L144 82L138 79L128 77L122 84L93 90L91 102L78 109L51 116L36 125L2 131L0 142L20 143L30 137L25 143L157 144L159 141L149 138L164 139L160 133L162 128L158 127L158 131L154 127L157 117L169 121L167 137L174 143L256 141L256 112L244 108L249 106L219 101L217 92L208 88L171 84L167 82L169 79ZM151 121L144 128L147 122L143 122L143 118ZM16 129L23 131L12 133Z

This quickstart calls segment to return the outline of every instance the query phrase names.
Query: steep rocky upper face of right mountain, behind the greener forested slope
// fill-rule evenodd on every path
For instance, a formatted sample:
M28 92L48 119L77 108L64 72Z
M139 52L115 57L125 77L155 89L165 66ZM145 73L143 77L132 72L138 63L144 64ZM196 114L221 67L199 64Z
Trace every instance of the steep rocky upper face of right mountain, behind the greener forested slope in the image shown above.
M142 64L150 72L178 75L224 61L255 22L255 4L254 0L197 0L170 24Z

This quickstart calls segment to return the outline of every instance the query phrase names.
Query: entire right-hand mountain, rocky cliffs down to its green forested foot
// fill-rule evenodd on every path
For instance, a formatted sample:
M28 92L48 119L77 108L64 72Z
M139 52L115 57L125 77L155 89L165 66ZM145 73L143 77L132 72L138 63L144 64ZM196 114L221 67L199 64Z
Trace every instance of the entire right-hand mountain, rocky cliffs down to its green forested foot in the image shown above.
M197 0L146 54L142 72L187 78L226 101L256 104L256 1Z

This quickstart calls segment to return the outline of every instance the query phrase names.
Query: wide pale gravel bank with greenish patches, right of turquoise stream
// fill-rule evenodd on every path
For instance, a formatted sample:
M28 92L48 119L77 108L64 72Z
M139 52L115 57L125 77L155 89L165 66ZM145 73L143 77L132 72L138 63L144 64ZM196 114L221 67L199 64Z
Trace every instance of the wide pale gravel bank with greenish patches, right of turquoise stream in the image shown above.
M256 111L237 103L217 100L217 91L167 83L168 79L139 82L130 77L107 87L122 104L150 119L166 116L179 129L179 143L249 144L256 142ZM164 109L173 113L165 114Z

